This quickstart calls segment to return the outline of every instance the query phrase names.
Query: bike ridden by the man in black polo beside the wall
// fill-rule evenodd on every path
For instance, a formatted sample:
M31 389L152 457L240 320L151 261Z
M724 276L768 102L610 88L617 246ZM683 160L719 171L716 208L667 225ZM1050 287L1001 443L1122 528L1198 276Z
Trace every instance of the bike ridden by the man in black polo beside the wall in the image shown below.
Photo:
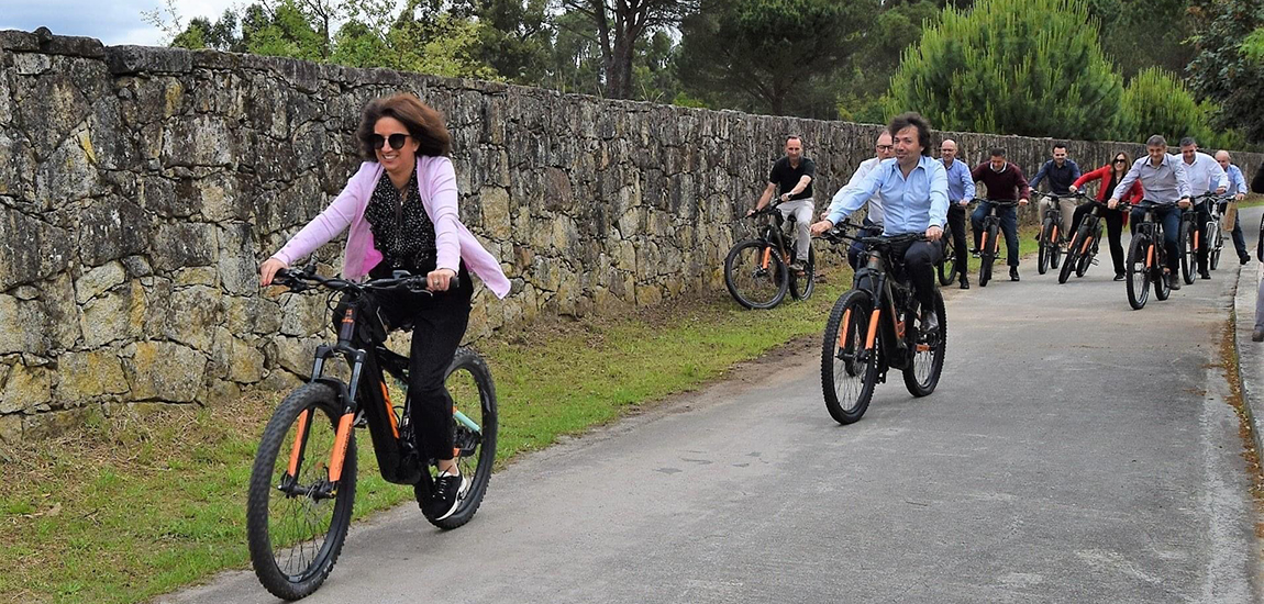
M817 286L817 251L808 248L803 270L791 270L798 259L795 238L782 230L795 221L781 216L777 203L760 210L747 219L772 216L772 224L763 225L755 239L738 241L724 257L724 287L737 303L747 308L767 310L781 303L786 292L795 299L808 299Z

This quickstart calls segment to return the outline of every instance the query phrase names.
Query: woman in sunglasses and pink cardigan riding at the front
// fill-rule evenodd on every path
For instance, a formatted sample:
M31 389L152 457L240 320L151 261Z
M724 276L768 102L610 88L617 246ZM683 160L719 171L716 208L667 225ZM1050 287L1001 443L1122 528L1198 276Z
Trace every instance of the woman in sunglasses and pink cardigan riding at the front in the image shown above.
M447 158L451 136L437 111L411 94L378 99L365 105L356 138L367 162L325 211L264 260L259 282L268 286L278 269L348 229L344 278L394 270L426 275L434 296L379 293L358 315L380 317L387 331L413 325L406 406L417 450L439 466L432 500L420 503L427 517L442 519L469 488L453 459L453 399L444 371L469 323L470 273L499 298L509 293L509 281L460 221Z

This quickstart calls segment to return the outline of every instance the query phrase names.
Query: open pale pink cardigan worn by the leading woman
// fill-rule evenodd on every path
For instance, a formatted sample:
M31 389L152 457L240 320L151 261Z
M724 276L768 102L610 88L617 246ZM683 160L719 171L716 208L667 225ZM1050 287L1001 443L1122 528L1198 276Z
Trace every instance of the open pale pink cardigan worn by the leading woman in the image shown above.
M332 203L320 212L307 226L303 226L281 250L272 255L287 267L295 260L311 254L341 234L349 225L346 253L343 259L343 277L359 279L382 262L382 253L373 248L373 231L364 220L364 208L369 205L373 190L386 171L377 162L364 162L359 172L351 176L346 187ZM478 275L498 298L509 293L509 279L501 270L501 263L474 239L461 224L456 211L456 171L446 157L417 157L417 190L422 206L435 224L435 246L437 248L439 268L456 272L460 260L470 273Z

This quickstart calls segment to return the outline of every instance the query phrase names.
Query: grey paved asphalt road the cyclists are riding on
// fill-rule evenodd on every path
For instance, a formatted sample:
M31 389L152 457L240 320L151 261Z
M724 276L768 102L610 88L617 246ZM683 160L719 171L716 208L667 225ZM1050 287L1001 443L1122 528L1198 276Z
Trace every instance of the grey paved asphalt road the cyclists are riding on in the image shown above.
M514 464L464 528L354 527L307 601L1256 601L1216 366L1232 251L1143 311L1102 251L1066 286L1025 264L952 289L929 398L892 374L839 426L817 344L791 346ZM238 571L161 601L274 600Z

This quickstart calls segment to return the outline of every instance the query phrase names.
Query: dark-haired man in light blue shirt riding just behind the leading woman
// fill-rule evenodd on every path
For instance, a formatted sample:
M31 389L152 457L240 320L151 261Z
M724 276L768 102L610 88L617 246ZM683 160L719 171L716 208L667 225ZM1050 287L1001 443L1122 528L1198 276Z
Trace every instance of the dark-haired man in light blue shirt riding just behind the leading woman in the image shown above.
M930 157L930 124L918 114L908 112L887 126L895 144L895 158L882 160L854 187L846 187L829 205L829 217L811 225L813 234L833 229L836 224L860 210L871 196L882 200L884 235L924 233L929 241L909 241L904 249L904 265L913 282L913 292L921 305L921 331L939 329L934 311L935 263L943 257L939 238L948 219L948 176L944 166Z

